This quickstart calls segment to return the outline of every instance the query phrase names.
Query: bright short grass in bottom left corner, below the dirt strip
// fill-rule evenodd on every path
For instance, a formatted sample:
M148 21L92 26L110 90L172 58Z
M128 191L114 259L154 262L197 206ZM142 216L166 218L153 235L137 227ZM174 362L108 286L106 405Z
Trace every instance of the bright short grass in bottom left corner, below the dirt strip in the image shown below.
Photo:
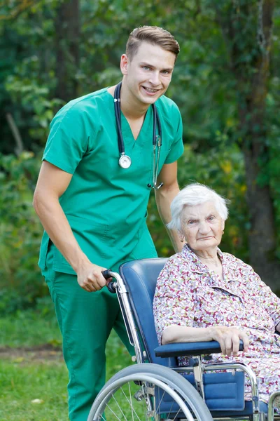
M67 373L62 361L0 363L1 421L66 421ZM32 403L39 399L40 403Z

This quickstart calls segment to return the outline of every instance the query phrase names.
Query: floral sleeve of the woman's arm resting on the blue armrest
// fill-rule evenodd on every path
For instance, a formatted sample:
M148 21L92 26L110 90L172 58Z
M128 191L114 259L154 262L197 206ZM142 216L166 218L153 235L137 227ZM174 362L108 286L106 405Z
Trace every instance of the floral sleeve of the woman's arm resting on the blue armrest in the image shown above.
M155 330L160 344L167 326L193 326L194 300L187 284L188 279L186 274L181 274L179 262L170 258L160 272L153 300Z

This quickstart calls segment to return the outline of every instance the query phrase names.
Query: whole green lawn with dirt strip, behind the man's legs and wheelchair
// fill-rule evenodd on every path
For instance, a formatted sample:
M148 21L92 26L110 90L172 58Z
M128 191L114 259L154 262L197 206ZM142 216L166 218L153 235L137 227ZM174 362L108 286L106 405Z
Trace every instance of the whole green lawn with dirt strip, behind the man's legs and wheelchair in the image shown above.
M46 352L43 345L48 345ZM68 420L68 375L59 345L52 312L19 312L0 319L1 421ZM129 354L113 333L107 346L107 377L130 364Z

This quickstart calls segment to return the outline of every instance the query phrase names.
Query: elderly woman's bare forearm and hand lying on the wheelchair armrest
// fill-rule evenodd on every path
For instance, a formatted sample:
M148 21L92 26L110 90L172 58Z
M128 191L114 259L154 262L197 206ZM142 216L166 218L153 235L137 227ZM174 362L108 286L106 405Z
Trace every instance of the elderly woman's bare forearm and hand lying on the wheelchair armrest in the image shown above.
M222 354L237 355L239 340L243 340L244 352L248 351L249 340L246 333L227 326L191 328L187 326L167 326L162 333L162 345L172 342L209 342L216 340L221 345Z

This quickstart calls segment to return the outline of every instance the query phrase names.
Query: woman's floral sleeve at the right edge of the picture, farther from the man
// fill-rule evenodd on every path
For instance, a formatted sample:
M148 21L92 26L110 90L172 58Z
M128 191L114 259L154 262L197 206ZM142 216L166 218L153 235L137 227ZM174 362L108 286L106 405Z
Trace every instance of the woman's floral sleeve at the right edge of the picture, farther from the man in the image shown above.
M277 326L280 322L280 298L272 293L269 286L262 282L260 276L255 272L253 272L253 291L255 293L255 300L258 301L258 305L269 314L273 320L274 326Z

